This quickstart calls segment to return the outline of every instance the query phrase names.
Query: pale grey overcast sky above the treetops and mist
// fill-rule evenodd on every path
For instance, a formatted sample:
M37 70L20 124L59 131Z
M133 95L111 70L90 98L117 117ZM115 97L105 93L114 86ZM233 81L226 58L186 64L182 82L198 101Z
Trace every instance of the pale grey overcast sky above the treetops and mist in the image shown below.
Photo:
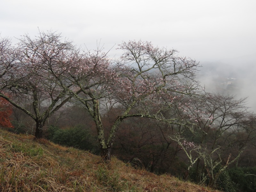
M252 76L246 79L251 82L250 89L256 90L256 74L246 70L247 63L256 65L255 0L0 1L2 37L12 37L15 42L14 37L20 35L37 35L38 28L58 31L90 49L97 40L106 49L122 41L151 41L177 49L180 56L200 61L203 66L219 62L227 70L243 68L244 74L250 72ZM111 54L115 51L112 49ZM251 90L243 91L242 96L250 95ZM253 105L256 107L255 102Z

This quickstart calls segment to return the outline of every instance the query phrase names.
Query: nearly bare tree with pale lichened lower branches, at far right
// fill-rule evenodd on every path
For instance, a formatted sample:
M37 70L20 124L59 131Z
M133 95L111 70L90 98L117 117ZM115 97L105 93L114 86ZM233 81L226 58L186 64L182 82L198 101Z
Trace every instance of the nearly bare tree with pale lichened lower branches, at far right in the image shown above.
M246 138L238 137L238 132L245 133L253 115L245 105L246 99L237 100L235 96L205 94L195 100L189 100L189 107L184 109L193 126L190 127L190 138L184 138L180 130L171 138L178 142L190 161L190 167L196 165L197 181L204 182L209 178L209 186L213 186L220 174L234 163L246 147ZM186 148L186 141L193 148ZM236 156L231 149L237 146ZM191 146L190 146L191 147ZM192 153L194 152L194 153ZM192 156L192 155L193 156ZM199 164L203 162L200 171ZM206 172L206 174L204 174Z

